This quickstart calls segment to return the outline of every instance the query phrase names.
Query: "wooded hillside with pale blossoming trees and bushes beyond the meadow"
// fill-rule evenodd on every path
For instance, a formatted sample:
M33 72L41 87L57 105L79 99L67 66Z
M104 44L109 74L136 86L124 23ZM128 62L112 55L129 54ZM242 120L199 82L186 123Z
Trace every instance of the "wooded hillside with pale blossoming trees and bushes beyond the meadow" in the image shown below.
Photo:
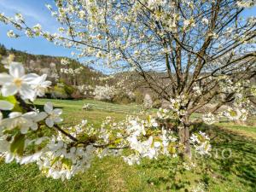
M137 90L139 102L143 102L144 84L142 79L136 73L116 73L114 75L105 75L92 67L86 67L79 61L71 60L67 57L50 56L50 55L32 55L16 49L6 49L0 44L0 58L5 60L9 55L15 55L14 61L21 62L26 68L27 73L38 73L40 75L47 74L52 82L52 88L47 94L47 97L62 98L62 99L79 99L92 98L96 85L115 87L123 92ZM68 59L67 65L61 64L62 59ZM79 73L63 73L61 69L79 69ZM0 71L5 71L3 63L0 65ZM81 88L84 87L84 88ZM88 90L89 88L89 90ZM149 91L149 90L148 90ZM87 92L87 94L84 94ZM90 94L88 95L88 93ZM147 91L146 91L147 92ZM122 94L117 93L118 100ZM122 100L122 99L121 99ZM114 102L113 99L112 102Z

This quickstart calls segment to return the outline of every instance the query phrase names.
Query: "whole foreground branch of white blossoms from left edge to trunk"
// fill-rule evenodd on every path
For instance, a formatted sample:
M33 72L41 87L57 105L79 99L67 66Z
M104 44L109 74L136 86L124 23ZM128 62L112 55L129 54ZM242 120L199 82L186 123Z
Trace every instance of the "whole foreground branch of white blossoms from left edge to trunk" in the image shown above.
M100 129L89 125L87 120L64 128L57 125L62 121L62 111L53 108L52 103L44 104L44 112L27 109L26 98L33 101L36 96L44 95L44 90L50 84L45 79L46 75L26 75L24 67L16 62L9 64L9 74L0 73L3 96L16 96L17 99L20 96L23 100L19 101L20 107L28 111L10 112L7 118L3 118L0 112L0 153L5 157L5 162L36 162L47 177L64 180L88 169L95 156L121 155L123 148L130 148L131 154L122 154L129 165L139 164L142 158L152 160L159 155L177 156L177 148L180 147L177 136L165 128L160 129L157 120L150 115L147 119L130 116L119 123L109 117L102 122ZM183 97L179 100L183 100ZM172 104L183 106L179 100ZM0 101L1 110L14 110L14 106L5 100ZM46 137L44 129L56 131L57 134ZM43 136L38 137L41 134ZM207 140L202 133L201 137ZM202 142L198 145L201 137L198 137L195 145L196 150L200 151L203 150ZM28 148L38 145L40 149L28 151Z

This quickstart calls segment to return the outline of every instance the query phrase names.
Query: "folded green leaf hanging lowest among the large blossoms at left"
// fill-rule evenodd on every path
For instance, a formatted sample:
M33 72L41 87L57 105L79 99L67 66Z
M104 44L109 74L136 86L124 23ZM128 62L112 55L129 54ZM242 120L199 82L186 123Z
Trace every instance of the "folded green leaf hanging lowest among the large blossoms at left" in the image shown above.
M14 154L22 155L25 147L25 135L17 133L14 141L10 145L10 151Z

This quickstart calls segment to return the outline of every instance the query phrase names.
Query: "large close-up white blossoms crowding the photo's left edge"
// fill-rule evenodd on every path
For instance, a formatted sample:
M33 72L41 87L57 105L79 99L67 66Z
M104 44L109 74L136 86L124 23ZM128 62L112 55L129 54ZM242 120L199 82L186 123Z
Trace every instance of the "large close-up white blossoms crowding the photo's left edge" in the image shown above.
M8 61L8 60L6 60ZM20 99L30 99L34 101L37 96L44 96L44 91L51 82L46 81L46 75L25 74L24 67L17 62L9 60L7 68L9 73L0 73L0 85L3 99L6 96L18 96ZM13 98L13 97L11 97ZM15 102L15 97L12 99ZM25 104L26 102L23 101ZM22 102L21 102L22 103ZM0 101L0 110L13 110L14 103L5 100ZM21 106L22 107L22 106ZM59 115L61 109L53 109L51 103L44 105L45 112L38 110L26 113L11 112L8 118L3 118L0 112L0 153L5 156L5 161L16 160L21 164L38 160L40 153L23 157L23 151L29 145L26 138L28 131L38 131L38 128L44 122L45 125L52 127L55 123L61 122ZM39 141L40 140L40 141ZM36 139L36 143L41 143L44 137Z

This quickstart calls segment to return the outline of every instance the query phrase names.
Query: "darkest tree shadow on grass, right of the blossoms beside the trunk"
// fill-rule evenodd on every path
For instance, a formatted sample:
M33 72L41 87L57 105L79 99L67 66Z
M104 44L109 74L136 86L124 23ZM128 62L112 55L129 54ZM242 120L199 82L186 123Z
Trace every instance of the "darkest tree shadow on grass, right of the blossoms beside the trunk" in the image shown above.
M211 132L217 136L211 141L212 147L218 148L220 156L212 159L216 171L224 176L236 175L241 183L256 189L256 141L218 126L211 126Z

